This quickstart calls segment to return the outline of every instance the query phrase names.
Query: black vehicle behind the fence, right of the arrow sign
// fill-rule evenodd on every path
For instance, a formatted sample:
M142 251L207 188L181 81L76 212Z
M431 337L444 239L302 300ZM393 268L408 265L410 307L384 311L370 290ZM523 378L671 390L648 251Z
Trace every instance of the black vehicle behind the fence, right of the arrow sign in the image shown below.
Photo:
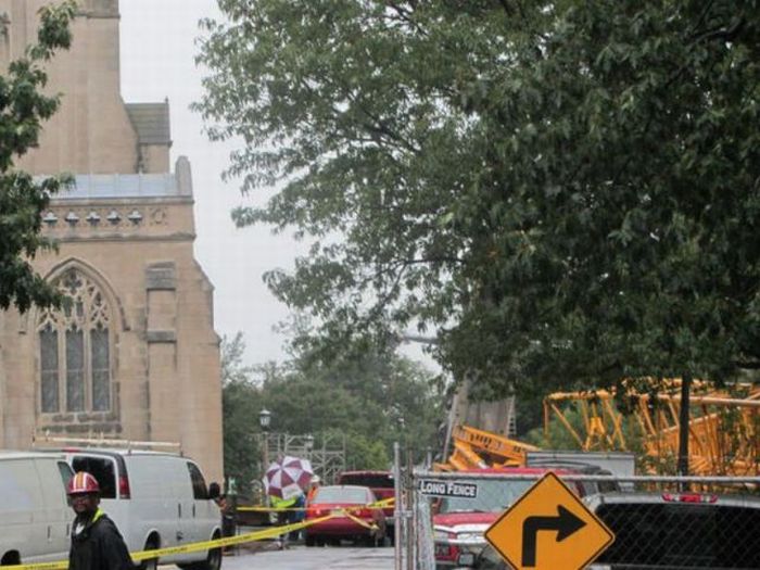
M584 503L615 533L590 570L760 568L760 497L698 493L609 493ZM460 568L509 570L491 546Z

